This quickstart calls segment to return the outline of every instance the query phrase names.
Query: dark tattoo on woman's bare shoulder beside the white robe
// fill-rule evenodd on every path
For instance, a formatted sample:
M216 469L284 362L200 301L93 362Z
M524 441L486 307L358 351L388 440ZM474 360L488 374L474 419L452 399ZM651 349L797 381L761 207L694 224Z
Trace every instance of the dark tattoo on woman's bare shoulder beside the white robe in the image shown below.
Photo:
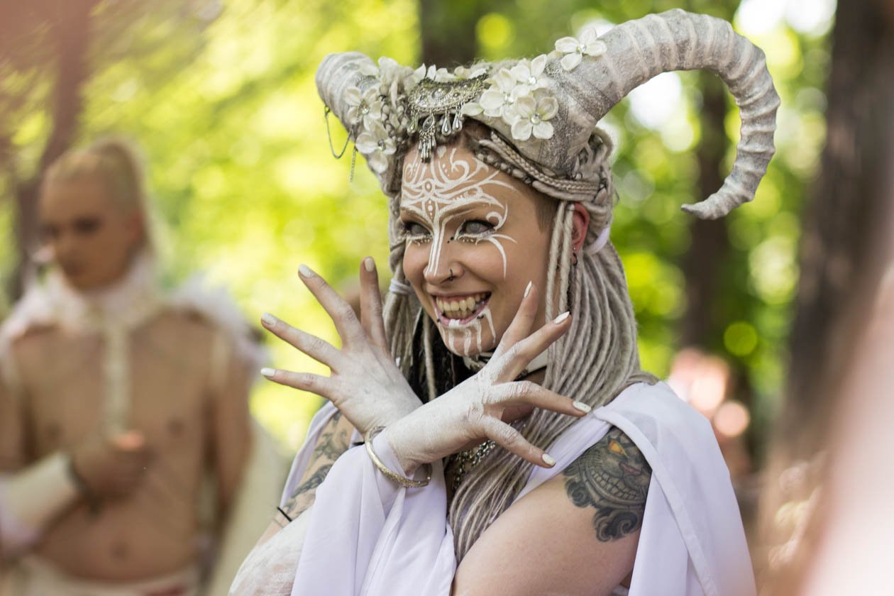
M571 502L595 508L593 528L599 541L618 540L643 525L652 468L620 429L612 427L562 474Z

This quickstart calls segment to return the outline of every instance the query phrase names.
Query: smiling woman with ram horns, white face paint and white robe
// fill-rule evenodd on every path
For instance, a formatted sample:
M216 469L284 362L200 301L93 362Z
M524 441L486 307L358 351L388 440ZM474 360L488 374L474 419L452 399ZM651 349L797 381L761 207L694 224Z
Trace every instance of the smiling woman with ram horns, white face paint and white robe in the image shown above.
M725 21L676 10L453 72L325 58L326 113L390 199L393 278L383 320L364 260L358 319L301 266L341 349L265 315L332 375L263 374L329 403L232 593L755 593L710 425L640 370L596 128L700 68L742 117L723 187L684 206L717 218L754 197L779 105Z

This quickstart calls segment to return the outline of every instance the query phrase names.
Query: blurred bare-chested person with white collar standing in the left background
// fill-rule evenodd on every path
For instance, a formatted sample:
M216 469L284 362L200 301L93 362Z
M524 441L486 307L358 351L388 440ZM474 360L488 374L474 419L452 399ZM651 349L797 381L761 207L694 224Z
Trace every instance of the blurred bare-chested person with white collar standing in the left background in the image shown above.
M146 200L121 139L44 177L49 267L0 328L0 571L13 596L228 585L234 569L208 574L212 550L238 564L275 501L276 457L249 416L264 350L223 292L161 287Z

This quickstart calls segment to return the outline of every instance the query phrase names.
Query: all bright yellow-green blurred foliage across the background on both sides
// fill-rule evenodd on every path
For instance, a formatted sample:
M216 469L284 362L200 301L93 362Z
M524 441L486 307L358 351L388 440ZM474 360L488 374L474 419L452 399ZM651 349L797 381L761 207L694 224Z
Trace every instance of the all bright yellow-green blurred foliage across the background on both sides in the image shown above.
M131 3L107 3L123 4ZM363 158L358 156L350 182L350 147L341 161L330 154L314 73L325 54L346 50L417 62L417 4L225 0L219 14L201 13L205 21L171 8L179 4L154 4L168 8L118 18L105 15L94 43L80 138L117 131L144 147L157 233L173 280L206 271L212 281L232 289L253 320L270 311L337 342L328 317L295 271L306 263L350 290L360 258L372 255L384 282L387 214ZM204 11L217 5L188 4ZM463 14L484 5L459 4ZM673 7L730 18L737 6L729 0L495 1L478 11L484 15L476 27L478 54L486 59L536 55L594 21L620 22ZM451 18L451 11L444 18ZM754 204L728 220L730 255L713 314L721 324L707 348L746 374L760 398L754 414L763 419L772 412L786 358L799 213L824 137L820 89L828 57L822 36L784 26L751 37L766 51L783 101L779 154ZM51 124L46 110L51 78L38 74L32 69L0 79L5 88L29 89L20 94L15 121L4 116L3 122L14 128L15 155L22 164L37 163ZM659 375L667 374L679 348L675 329L687 307L680 260L689 246L689 221L679 206L702 198L696 197L693 154L702 137L698 79L692 73L670 77L671 88L679 87L671 118L658 125L642 122L641 111L625 100L603 122L617 144L620 204L612 239L626 264L644 365ZM345 135L334 120L331 124L337 150ZM734 107L726 129L734 143ZM4 196L10 189L10 179L0 173ZM9 204L0 212L4 222L9 222ZM7 247L12 243L3 241ZM10 265L7 248L0 251L0 266L9 272ZM270 346L275 365L325 373L325 367L281 342ZM315 396L266 382L253 399L257 416L292 447L318 405Z

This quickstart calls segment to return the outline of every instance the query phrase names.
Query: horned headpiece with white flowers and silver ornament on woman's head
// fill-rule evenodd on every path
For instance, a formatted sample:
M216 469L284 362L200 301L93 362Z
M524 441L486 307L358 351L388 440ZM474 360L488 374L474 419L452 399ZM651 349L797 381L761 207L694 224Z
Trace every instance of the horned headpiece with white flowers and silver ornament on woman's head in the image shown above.
M582 166L581 155L612 106L661 72L703 68L730 87L742 121L736 162L722 188L683 206L713 219L754 198L774 152L780 103L763 52L726 21L676 9L622 23L602 37L585 29L580 38L561 38L550 54L532 60L477 63L452 72L333 54L320 64L316 85L327 113L356 139L386 194L400 187L402 155L411 143L417 142L426 161L439 139L455 135L472 118L499 133L511 161L523 160L543 178L562 180L556 196L564 198L586 194L597 182L587 180L595 173Z

